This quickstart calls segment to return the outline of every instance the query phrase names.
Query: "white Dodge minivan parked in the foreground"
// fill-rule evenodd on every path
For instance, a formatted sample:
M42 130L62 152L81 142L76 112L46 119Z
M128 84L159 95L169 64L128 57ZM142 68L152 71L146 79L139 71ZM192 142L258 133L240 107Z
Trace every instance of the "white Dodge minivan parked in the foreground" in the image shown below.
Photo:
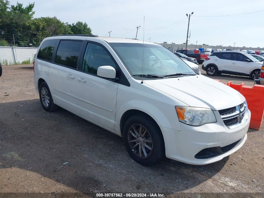
M251 113L244 96L198 75L155 43L49 37L33 69L46 111L62 107L122 136L129 155L142 165L164 156L205 165L234 153L247 139Z

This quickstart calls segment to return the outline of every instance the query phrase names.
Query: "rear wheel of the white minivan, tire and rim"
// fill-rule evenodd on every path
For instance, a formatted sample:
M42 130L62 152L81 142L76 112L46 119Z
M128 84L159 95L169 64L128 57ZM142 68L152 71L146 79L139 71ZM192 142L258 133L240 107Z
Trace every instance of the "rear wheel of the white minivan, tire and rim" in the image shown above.
M55 111L58 106L53 103L52 95L46 82L41 83L39 86L39 99L40 103L46 111Z

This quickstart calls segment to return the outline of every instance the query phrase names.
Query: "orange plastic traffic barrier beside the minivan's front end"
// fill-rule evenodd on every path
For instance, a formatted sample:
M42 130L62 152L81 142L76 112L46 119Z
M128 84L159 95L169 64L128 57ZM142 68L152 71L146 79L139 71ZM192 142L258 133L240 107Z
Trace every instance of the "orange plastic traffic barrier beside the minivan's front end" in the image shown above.
M220 80L217 80L220 82ZM259 130L264 114L264 85L255 84L246 86L242 84L224 83L240 92L247 100L248 109L251 111L249 128Z

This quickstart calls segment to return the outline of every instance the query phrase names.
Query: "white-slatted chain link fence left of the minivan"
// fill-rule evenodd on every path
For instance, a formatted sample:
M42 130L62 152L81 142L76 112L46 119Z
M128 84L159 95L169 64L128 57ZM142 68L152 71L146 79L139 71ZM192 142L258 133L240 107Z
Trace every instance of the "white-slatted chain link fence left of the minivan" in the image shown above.
M1 47L0 63L2 65L32 64L38 48Z

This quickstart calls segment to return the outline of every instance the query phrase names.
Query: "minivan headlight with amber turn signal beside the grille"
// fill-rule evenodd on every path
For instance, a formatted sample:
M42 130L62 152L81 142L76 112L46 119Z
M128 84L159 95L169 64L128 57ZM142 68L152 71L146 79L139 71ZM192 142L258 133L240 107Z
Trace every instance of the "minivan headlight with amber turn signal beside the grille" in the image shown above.
M216 122L212 109L197 107L175 107L179 121L192 126Z

